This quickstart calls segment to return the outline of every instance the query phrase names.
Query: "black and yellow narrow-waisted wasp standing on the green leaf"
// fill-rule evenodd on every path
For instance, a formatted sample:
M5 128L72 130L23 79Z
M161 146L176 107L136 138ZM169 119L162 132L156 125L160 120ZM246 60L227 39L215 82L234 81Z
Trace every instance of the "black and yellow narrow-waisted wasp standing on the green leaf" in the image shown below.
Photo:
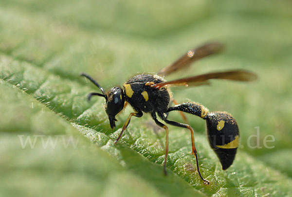
M187 68L192 62L211 54L217 54L223 49L220 43L206 43L198 48L189 50L186 54L177 59L174 63L165 67L157 74L138 74L128 79L122 87L113 87L106 92L91 76L82 73L102 93L91 92L88 100L92 96L102 96L106 100L105 111L109 117L110 127L115 127L116 115L129 104L134 112L130 113L124 123L121 133L115 140L116 144L122 137L124 131L130 123L132 116L140 118L144 113L149 113L155 123L165 130L165 158L164 174L166 175L166 161L168 154L168 127L157 120L157 116L166 124L186 128L191 133L192 154L196 158L197 171L204 184L210 181L201 176L197 149L195 146L194 129L187 124L168 120L170 111L180 111L182 114L190 113L206 121L206 130L211 148L217 154L222 169L226 170L234 161L239 146L239 129L236 120L227 112L214 111L196 102L186 102L178 104L173 98L170 87L174 86L201 86L210 84L211 79L225 79L234 81L253 81L257 78L256 74L246 70L232 70L224 72L210 72L197 76L166 81L164 76ZM177 105L172 106L172 103ZM183 116L185 119L185 116Z

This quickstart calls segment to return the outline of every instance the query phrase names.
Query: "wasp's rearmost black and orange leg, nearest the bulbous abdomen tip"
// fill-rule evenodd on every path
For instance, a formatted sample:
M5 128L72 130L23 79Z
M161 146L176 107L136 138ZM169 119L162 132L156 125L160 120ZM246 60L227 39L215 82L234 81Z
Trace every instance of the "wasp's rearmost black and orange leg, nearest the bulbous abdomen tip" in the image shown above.
M194 129L190 126L190 125L187 125L187 124L183 124L183 123L178 123L178 122L175 122L175 121L170 121L170 120L167 120L164 116L164 113L161 113L161 112L158 112L158 115L161 119L164 120L165 123L169 124L169 125L173 125L173 126L178 126L178 127L182 127L182 128L187 128L191 131L191 140L192 140L192 154L195 155L196 157L196 164L197 164L197 171L199 173L199 176L200 178L204 181L204 184L207 184L209 185L210 184L210 181L207 180L207 179L204 179L202 176L201 176L201 172L200 172L200 168L199 168L199 161L198 161L198 155L197 155L197 150L196 150L196 146L195 146L195 139L194 139Z

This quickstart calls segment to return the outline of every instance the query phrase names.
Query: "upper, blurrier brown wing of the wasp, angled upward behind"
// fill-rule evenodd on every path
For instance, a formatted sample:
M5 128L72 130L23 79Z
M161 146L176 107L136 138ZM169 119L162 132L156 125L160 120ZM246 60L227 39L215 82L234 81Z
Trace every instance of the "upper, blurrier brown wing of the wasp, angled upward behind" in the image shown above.
M220 43L212 42L204 44L196 49L189 50L186 54L181 56L175 62L160 70L157 74L161 76L166 76L175 71L187 68L192 62L211 54L219 53L220 51L222 51L222 49L223 44Z

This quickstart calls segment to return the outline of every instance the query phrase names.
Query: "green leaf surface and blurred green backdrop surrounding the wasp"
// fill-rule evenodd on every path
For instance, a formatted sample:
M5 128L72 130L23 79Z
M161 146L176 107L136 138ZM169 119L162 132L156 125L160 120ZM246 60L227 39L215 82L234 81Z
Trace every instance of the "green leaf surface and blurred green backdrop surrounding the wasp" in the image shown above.
M0 0L0 196L290 196L291 6L290 0ZM132 109L111 130L104 99L87 102L96 88L79 76L89 73L109 89L207 41L226 49L166 79L228 69L259 76L253 83L173 89L179 102L228 111L239 125L241 146L225 172L203 120L187 115L210 186L198 177L186 130L170 126L167 177L165 135L149 116L133 118L113 146ZM182 122L178 113L169 117ZM259 136L250 138L255 127ZM265 147L267 135L274 148ZM29 141L22 148L27 137L34 148ZM66 147L70 139L76 146Z

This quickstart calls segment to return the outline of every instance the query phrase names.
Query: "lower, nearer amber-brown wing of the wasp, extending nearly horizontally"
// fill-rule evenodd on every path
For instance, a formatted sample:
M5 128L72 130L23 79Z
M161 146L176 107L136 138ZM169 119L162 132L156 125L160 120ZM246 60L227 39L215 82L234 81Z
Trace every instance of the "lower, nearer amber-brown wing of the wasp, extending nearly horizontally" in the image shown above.
M245 70L234 70L226 72L210 72L206 74L201 74L193 77L187 77L183 79L177 79L173 81L166 81L152 86L161 89L162 87L169 86L201 86L210 84L210 79L227 79L233 81L254 81L256 80L257 75L250 71Z

